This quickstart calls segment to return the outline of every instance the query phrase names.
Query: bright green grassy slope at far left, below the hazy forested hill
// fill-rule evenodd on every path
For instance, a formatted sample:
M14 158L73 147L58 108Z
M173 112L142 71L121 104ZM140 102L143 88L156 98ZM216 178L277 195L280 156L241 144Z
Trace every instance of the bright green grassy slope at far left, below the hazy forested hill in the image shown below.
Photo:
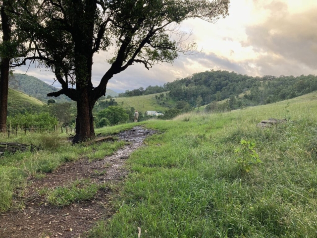
M9 89L8 93L8 116L18 112L38 111L44 103L22 92Z

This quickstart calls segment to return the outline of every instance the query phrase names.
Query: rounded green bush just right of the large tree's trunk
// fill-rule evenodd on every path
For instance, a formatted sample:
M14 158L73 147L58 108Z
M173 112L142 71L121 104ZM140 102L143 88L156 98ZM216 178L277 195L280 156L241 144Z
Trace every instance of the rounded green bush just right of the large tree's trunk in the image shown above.
M111 125L125 123L129 119L126 110L117 106L109 106L108 108L100 111L98 113L98 117L108 119Z

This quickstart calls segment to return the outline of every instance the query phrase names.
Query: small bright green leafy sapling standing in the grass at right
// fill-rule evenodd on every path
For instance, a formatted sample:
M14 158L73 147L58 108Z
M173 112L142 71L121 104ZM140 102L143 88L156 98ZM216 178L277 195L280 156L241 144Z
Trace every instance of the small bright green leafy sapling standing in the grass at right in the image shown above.
M258 153L254 150L256 146L255 142L241 139L240 143L241 147L234 151L237 156L236 161L242 171L249 172L251 166L262 163L262 161L259 159Z

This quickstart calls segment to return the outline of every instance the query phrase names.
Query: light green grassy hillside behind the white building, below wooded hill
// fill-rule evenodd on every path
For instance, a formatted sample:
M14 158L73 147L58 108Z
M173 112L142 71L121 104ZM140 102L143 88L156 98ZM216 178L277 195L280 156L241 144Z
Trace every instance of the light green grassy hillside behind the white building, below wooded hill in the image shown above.
M164 92L164 98L163 100L157 100L155 96L159 96L162 93L156 93L156 94L149 94L149 95L143 95L143 96L134 96L134 97L124 97L124 98L116 98L115 101L122 105L123 107L134 107L139 112L146 112L146 111L157 111L157 112L164 112L169 107L173 107L175 105L175 102L166 96L166 93ZM168 98L168 99L167 99Z

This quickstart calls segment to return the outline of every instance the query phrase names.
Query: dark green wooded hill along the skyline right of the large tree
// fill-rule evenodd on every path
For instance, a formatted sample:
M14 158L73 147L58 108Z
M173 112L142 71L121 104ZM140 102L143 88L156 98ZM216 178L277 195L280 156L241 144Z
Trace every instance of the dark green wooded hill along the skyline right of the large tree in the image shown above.
M317 76L279 77L264 75L252 77L235 72L211 70L165 83L126 91L120 96L137 96L169 92L175 101L186 101L193 107L207 105L213 101L231 98L232 109L254 106L294 98L317 90ZM235 98L235 99L234 99Z

